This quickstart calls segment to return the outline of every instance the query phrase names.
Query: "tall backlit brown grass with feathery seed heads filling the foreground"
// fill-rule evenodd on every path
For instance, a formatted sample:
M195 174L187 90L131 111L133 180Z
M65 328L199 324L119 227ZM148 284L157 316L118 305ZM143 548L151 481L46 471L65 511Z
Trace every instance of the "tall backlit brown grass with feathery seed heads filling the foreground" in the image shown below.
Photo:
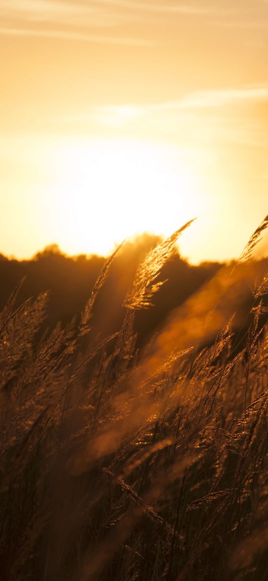
M163 329L138 352L135 309L152 302L181 231L145 257L122 329L99 343L94 302L113 257L78 327L40 338L48 293L14 310L16 289L3 310L3 581L267 579L268 278L239 345L234 316L217 329L222 317L205 313L196 334L195 310L192 345L177 326L166 349Z

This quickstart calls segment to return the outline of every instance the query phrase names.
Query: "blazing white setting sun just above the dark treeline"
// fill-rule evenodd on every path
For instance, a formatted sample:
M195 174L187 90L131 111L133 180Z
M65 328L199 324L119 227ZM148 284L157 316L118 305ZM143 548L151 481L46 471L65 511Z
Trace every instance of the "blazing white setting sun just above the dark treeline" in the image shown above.
M54 155L52 221L69 253L108 254L142 232L169 235L198 213L198 177L176 149L79 139ZM60 217L60 220L59 220Z

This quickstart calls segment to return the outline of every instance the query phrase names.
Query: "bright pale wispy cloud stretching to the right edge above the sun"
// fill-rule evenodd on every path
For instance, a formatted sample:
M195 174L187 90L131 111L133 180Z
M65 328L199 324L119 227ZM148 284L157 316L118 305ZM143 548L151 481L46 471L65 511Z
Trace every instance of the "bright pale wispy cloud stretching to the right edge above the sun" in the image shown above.
M92 106L62 122L95 135L104 132L139 139L183 139L184 145L235 142L267 148L267 124L256 114L256 105L263 102L268 102L268 85L192 92L177 101L139 106Z

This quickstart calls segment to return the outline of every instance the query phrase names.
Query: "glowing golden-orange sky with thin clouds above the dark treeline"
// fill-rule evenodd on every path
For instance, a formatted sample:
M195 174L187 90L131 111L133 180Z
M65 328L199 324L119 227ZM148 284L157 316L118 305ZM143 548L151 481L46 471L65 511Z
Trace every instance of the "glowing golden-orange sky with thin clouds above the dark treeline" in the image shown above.
M1 0L0 23L0 253L196 217L185 257L240 255L268 206L268 0Z

